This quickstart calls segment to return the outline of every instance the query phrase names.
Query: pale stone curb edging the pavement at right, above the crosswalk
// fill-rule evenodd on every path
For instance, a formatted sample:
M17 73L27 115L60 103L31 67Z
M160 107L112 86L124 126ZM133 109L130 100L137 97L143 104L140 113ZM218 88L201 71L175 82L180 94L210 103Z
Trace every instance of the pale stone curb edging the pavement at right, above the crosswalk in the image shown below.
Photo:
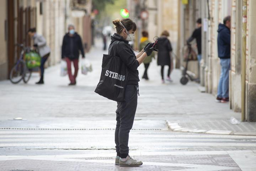
M168 128L174 132L191 132L191 133L203 133L203 134L224 134L224 135L247 135L256 136L256 132L234 132L231 130L204 130L204 129L192 129L181 127L177 122L171 123L166 120Z

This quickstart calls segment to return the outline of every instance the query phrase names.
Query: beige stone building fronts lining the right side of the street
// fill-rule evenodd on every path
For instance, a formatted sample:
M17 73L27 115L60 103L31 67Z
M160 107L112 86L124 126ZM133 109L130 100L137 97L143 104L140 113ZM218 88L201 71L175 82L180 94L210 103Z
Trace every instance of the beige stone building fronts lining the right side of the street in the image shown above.
M229 77L230 108L241 112L242 121L256 121L256 16L254 0L189 0L180 3L180 51L189 36L186 25L202 18L201 86L217 95L220 76L217 36L218 25L225 16L231 16L231 70ZM188 12L186 11L188 9ZM243 10L245 13L243 13ZM194 14L194 15L192 15ZM187 18L190 18L187 20ZM193 25L190 25L190 28ZM183 28L183 29L182 29ZM194 27L192 27L192 30ZM191 64L196 65L196 64ZM194 70L196 66L191 68ZM244 79L243 79L244 78Z

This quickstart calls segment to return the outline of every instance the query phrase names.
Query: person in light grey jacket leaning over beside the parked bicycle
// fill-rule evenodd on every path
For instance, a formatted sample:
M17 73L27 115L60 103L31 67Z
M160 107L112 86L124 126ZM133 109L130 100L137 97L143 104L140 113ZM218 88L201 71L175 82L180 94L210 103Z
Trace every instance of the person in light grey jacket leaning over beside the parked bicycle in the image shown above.
M37 50L39 55L41 56L41 78L36 84L44 84L43 81L43 75L44 75L44 63L50 56L50 48L46 45L46 39L42 36L36 33L36 28L30 28L28 30L28 35L33 38L34 40L34 49Z

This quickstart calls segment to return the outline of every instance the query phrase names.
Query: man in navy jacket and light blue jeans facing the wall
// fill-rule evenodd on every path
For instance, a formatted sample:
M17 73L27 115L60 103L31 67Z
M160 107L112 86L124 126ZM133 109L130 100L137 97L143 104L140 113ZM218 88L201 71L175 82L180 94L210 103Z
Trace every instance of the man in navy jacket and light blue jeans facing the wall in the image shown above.
M225 103L229 101L231 17L225 17L223 23L219 24L218 29L218 56L220 58L221 73L216 101Z

